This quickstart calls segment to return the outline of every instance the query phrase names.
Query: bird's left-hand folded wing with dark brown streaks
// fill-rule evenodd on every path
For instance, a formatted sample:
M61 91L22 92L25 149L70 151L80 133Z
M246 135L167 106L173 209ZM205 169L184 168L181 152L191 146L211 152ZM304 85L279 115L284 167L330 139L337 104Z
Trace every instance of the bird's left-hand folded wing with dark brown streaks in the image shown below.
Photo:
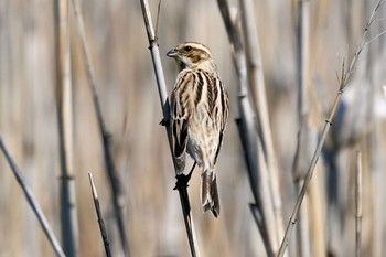
M195 84L192 72L181 72L170 97L173 156L178 172L185 168L185 151L189 139L189 120L193 113L192 89Z

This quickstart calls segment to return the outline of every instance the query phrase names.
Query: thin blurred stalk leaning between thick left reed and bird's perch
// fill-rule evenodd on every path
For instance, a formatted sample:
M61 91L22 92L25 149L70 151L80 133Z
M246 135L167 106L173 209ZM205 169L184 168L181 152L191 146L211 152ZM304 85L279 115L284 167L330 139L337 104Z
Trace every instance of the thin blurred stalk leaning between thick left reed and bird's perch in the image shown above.
M105 119L103 117L101 109L100 109L99 98L97 94L96 77L94 73L93 63L90 60L90 54L88 51L88 44L86 40L86 33L83 24L83 18L82 18L78 0L73 0L73 7L74 7L74 14L77 21L76 25L82 40L83 55L87 65L87 75L89 81L89 87L93 94L94 108L98 120L100 137L103 140L105 164L106 164L106 170L107 170L108 179L112 191L112 203L114 203L115 214L117 216L119 239L120 239L125 256L129 257L130 251L129 251L128 237L127 237L126 226L125 226L124 206L122 206L125 201L122 200L124 193L121 189L121 183L112 159L112 153L110 149L110 135L107 131Z

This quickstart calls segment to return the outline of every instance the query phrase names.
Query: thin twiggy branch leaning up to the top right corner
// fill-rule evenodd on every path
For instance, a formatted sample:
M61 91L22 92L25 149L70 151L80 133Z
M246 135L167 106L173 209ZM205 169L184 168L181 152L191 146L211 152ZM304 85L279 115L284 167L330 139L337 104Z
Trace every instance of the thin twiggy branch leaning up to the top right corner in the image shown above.
M335 114L336 114L336 110L337 110L337 107L340 106L340 103L341 103L341 98L342 98L342 94L345 89L345 87L347 86L349 84L349 79L351 78L351 75L354 71L354 67L356 65L356 62L357 62L357 58L360 56L360 54L362 53L364 46L366 45L366 43L368 42L368 29L371 26L371 24L373 24L375 18L376 18L376 13L377 13L377 10L379 9L379 7L384 3L385 0L379 0L369 18L369 21L367 22L366 26L365 26L365 32L363 34L363 38L362 38L362 42L357 49L357 51L355 52L352 61L351 61L351 64L350 64L350 67L349 69L345 69L344 68L344 62L342 64L342 75L341 75L341 78L340 78L340 87L339 87L339 92L337 92L337 95L335 97L335 100L334 100L334 104L333 104L333 107L331 109L331 113L330 113L330 116L329 118L325 120L325 124L324 124L324 127L323 127L323 130L322 130L322 135L318 141L318 146L317 146L317 149L314 151L314 154L312 157L312 160L311 160L311 163L310 163L310 167L307 171L307 174L305 174L305 178L304 178L304 183L303 183L303 186L301 188L301 191L300 191L300 194L297 199L297 203L293 207L293 211L292 211L292 214L291 214L291 217L290 217L290 221L287 225L287 229L286 229L286 234L285 234L285 237L282 238L282 242L281 242L281 245L280 245L280 249L279 249L279 254L278 254L278 257L281 257L285 255L286 253L286 249L287 249L287 246L288 246L288 242L289 242L289 237L292 233L292 229L298 221L298 216L299 216L299 211L300 211L300 206L302 204L302 201L305 196L305 192L310 185L310 182L311 182L311 179L312 179L312 174L313 174L313 171L314 171L314 168L317 165L317 162L319 160L319 157L321 154L321 151L322 151L322 148L323 148L323 144L324 144L324 141L325 141L325 137L332 126L332 121L335 117Z

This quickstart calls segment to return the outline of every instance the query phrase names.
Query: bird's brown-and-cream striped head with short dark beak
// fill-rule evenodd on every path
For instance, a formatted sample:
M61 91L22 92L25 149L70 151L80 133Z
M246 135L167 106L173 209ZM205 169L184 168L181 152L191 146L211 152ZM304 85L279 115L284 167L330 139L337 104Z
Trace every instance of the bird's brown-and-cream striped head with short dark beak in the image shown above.
M180 71L184 68L201 68L206 72L216 73L216 65L212 58L212 53L203 44L194 42L182 43L169 51L167 55L175 60Z

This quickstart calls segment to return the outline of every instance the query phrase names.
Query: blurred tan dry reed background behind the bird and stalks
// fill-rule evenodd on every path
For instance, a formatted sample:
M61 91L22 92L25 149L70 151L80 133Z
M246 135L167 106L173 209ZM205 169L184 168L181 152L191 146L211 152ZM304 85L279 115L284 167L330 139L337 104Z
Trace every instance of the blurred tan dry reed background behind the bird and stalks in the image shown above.
M237 1L230 1L237 7ZM158 1L150 1L156 17ZM297 194L292 162L297 143L297 82L294 2L255 2L275 150L280 170L283 217L287 223ZM360 43L374 1L311 1L310 107L320 129L337 88L341 60ZM367 7L367 8L366 8ZM369 7L369 8L368 8ZM114 221L101 141L85 62L71 8L74 97L74 171L79 223L79 255L104 256L87 172L93 171L115 256L119 240ZM189 256L174 173L139 1L82 1L86 34L98 82L98 94L125 190L126 228L132 256ZM383 7L379 18L386 18ZM375 23L372 34L385 30ZM218 160L222 215L203 215L199 175L190 195L202 256L264 256L250 215L253 201L234 119L237 82L228 39L216 1L163 0L159 44L167 83L176 67L164 56L182 41L208 45L227 85L230 117ZM386 40L380 38L363 55L344 107L336 117L317 176L322 193L324 238L333 256L354 256L353 171L355 150L364 162L363 255L382 256L385 235ZM31 185L55 234L60 235L58 137L55 110L53 1L0 1L0 132ZM328 165L328 163L334 163ZM53 256L3 158L0 158L0 256ZM336 189L334 192L332 189ZM329 195L331 197L329 197ZM311 226L312 229L312 226ZM297 256L294 237L290 254ZM317 255L312 255L317 256ZM323 255L322 255L323 256Z

